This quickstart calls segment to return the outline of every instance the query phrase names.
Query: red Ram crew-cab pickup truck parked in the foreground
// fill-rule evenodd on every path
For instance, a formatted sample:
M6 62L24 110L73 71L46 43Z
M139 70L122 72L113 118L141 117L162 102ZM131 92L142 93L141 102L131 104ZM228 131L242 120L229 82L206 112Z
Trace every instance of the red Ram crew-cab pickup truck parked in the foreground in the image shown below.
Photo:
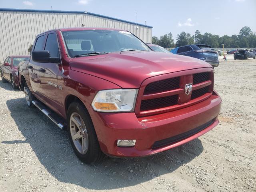
M86 163L163 152L218 124L210 64L154 52L128 31L44 32L18 73L28 106L66 129Z

